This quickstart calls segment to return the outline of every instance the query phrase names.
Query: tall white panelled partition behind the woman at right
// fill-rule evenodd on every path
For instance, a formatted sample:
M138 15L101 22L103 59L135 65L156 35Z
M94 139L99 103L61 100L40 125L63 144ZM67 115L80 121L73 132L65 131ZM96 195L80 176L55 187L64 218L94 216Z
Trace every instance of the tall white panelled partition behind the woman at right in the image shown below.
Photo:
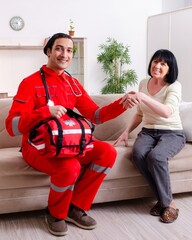
M192 7L158 14L148 19L148 61L156 49L170 49L176 56L182 84L182 99L192 101L191 95L191 53ZM158 28L157 28L158 25Z

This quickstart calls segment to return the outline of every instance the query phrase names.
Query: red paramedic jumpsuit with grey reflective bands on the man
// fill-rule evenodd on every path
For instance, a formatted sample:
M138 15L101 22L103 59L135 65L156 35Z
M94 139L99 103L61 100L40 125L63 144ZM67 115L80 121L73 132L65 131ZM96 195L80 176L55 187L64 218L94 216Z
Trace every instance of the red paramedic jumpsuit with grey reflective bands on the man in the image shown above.
M66 73L58 75L45 65L43 70L51 100L55 105L77 108L95 124L115 118L125 111L119 104L120 99L99 108L77 79L74 79L74 84ZM84 157L53 159L40 155L38 150L28 143L29 131L39 121L50 117L40 71L37 71L20 83L6 119L6 128L11 136L23 135L24 160L50 176L48 209L53 217L65 219L70 203L83 210L90 209L98 188L115 162L116 151L112 145L95 140L93 150L88 151ZM83 165L87 166L86 171L76 181Z

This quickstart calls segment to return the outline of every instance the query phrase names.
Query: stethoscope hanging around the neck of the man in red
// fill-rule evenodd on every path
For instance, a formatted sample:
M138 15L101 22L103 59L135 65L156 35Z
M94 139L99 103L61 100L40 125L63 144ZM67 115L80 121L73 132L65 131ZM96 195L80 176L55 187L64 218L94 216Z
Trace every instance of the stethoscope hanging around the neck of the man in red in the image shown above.
M66 80L66 82L68 83L69 87L71 88L71 91L72 93L76 96L76 97L80 97L82 96L82 91L81 89L78 87L78 85L76 84L75 80L73 79L73 77L71 76L70 73L68 73L67 71L64 71L64 73L66 73L70 78L71 80L73 81L73 84L76 88L76 90L73 89L72 85L70 84L70 82ZM45 92L46 92L46 97L47 97L47 105L48 106L54 106L54 102L51 100L50 98L50 94L49 94L49 90L48 90L48 87L47 87L47 82L46 82L46 79L45 79L45 74L44 74L44 71L42 68L40 68L40 74L41 74L41 78L42 78L42 81L43 81L43 84L44 84L44 87L45 87Z

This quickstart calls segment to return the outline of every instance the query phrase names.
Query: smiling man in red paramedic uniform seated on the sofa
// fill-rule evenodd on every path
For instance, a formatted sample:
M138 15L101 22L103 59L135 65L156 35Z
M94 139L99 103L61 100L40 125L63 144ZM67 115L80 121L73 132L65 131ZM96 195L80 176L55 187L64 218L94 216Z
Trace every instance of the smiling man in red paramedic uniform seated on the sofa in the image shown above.
M47 104L40 71L25 78L6 119L6 128L11 136L23 135L22 155L24 160L38 171L50 176L50 193L46 223L48 230L56 235L67 233L66 222L83 229L93 229L96 221L88 216L93 199L104 177L112 168L116 151L106 142L94 141L94 148L84 157L53 159L40 155L28 142L31 128L41 120L60 118L66 108L77 108L95 124L117 117L125 111L121 99L99 108L77 81L64 70L73 57L73 40L64 33L53 35L44 47L48 56L42 67L52 104ZM133 100L132 104L137 101ZM131 106L130 106L131 107ZM77 180L81 166L86 165L83 176Z

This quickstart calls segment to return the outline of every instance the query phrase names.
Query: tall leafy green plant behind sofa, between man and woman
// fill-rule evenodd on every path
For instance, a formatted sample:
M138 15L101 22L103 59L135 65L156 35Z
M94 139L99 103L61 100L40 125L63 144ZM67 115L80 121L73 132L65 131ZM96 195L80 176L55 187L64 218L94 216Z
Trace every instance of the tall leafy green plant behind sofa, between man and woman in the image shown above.
M99 49L101 53L98 54L97 61L102 64L102 69L107 74L104 79L107 83L101 89L101 93L125 93L128 85L137 83L136 72L126 68L131 64L129 46L108 38Z

